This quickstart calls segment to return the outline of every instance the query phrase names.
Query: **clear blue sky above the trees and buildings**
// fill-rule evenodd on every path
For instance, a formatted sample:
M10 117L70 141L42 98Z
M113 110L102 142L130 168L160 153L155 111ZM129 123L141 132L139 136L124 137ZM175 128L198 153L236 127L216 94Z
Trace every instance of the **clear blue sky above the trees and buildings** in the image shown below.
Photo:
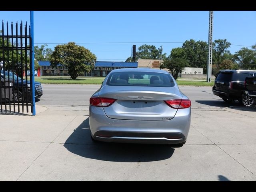
M30 24L30 11L0 11L4 22ZM256 11L214 11L213 41L226 38L232 54L256 44ZM5 24L6 25L6 24ZM142 44L170 54L186 40L208 42L209 11L34 11L34 44L76 42L98 61L125 61ZM236 46L243 45L243 46Z

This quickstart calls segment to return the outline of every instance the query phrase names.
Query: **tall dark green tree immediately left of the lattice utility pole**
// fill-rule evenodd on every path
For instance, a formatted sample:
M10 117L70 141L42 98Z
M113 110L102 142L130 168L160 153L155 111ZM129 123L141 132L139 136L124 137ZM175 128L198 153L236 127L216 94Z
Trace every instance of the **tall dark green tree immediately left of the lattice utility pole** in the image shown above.
M208 44L205 41L186 40L182 44L184 58L188 61L190 67L202 67L206 73Z

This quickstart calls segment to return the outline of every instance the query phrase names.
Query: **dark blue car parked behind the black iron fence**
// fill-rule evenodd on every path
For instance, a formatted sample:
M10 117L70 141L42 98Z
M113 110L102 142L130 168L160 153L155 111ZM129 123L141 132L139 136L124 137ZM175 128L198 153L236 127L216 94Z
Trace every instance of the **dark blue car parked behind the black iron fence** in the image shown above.
M12 72L9 72L10 82L12 83ZM4 78L4 71L1 71L1 79ZM18 83L17 83L18 78ZM8 71L5 71L5 79L8 81ZM18 88L19 87L19 88ZM14 97L13 100L17 101L22 100L22 79L14 75ZM28 82L28 94L26 94L26 80L23 79L23 93L24 93L24 100L26 100L26 96L30 98L30 82ZM35 98L38 99L43 95L42 85L40 82L35 81Z

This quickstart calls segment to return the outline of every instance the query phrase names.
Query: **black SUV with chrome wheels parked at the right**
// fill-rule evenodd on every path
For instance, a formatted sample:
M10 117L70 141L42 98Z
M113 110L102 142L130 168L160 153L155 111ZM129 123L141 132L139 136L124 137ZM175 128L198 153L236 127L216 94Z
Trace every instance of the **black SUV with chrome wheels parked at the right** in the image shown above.
M245 78L250 76L256 76L256 70L222 70L216 76L212 92L225 102L238 100L248 106L247 102L243 102L243 91Z

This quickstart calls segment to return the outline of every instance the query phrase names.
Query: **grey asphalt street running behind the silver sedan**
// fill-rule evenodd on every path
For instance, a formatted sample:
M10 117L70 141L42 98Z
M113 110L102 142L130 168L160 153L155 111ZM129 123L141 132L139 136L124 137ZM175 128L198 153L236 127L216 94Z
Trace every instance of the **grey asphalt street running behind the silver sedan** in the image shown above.
M90 96L100 88L100 85L76 84L43 84L44 95L37 104L40 105L72 105L88 106ZM212 87L179 86L180 90L192 101L192 108L200 107L228 107L239 105L228 104L212 93Z

